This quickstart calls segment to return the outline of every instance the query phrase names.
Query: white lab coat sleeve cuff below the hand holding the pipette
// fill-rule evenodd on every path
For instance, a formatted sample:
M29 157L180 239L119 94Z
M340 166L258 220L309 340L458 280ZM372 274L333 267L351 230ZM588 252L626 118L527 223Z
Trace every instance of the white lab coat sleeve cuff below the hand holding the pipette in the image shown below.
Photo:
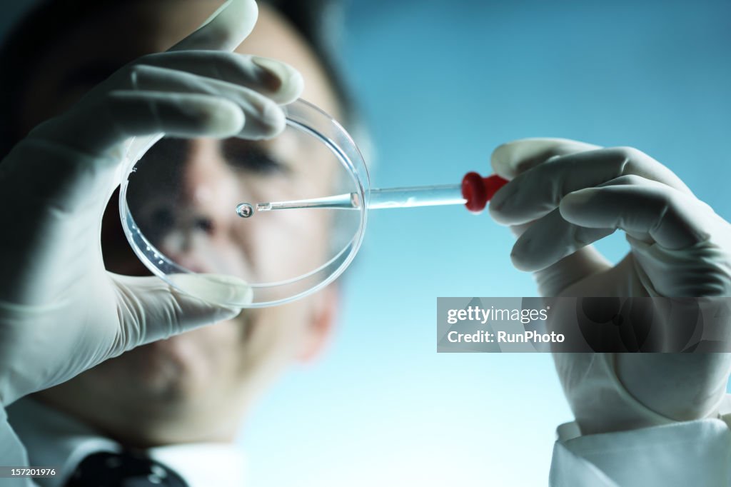
M653 426L602 434L581 434L575 422L559 426L550 485L731 487L731 430L721 420L726 416L676 421L659 415L624 388L614 359L614 354L595 354L584 369L577 418L603 410L607 424L631 423L632 417Z

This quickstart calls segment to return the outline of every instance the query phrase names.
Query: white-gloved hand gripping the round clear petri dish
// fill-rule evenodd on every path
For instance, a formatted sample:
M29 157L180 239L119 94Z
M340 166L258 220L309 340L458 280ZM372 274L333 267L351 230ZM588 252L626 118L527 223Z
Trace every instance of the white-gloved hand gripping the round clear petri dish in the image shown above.
M298 97L299 73L226 52L256 20L253 0L228 1L169 51L128 64L41 124L0 163L0 405L238 314L156 277L108 273L100 228L129 137L257 139L284 129L277 104ZM224 302L216 292L211 301Z

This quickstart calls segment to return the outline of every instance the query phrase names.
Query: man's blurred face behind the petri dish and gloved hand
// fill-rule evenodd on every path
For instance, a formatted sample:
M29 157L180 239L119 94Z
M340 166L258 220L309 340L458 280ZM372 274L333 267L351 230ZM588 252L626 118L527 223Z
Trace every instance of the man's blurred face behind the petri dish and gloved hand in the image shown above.
M41 58L43 76L28 85L23 128L63 110L91 88L84 81L84 72L121 67L143 54L169 48L200 25L219 4L216 0L140 1L102 14L94 25L84 26L61 40ZM291 64L305 79L303 98L337 118L336 97L317 58L276 12L260 7L257 27L238 52ZM162 235L157 242L163 252L175 254L178 262L189 263L196 271L225 273L227 269L238 269L269 280L270 276L291 276L292 266L311 268L314 259L327 252L330 222L311 211L300 216L298 222L307 230L297 234L299 253L285 253L286 257L281 257L281 252L244 253L244 247L262 249L266 246L262 243L277 246L292 238L292 227L268 224L263 219L255 223L252 218L246 233L241 233L237 230L241 222L233 208L247 198L251 198L249 203L266 201L270 194L261 194L257 188L275 188L276 195L276 187L285 182L306 188L309 194L330 194L335 169L332 165L310 164L305 171L296 167L296 157L284 156L281 160L289 160L292 167L258 173L258 169L249 168L242 172L230 154L251 150L252 143L201 139L164 144L183 154L178 158L178 189L174 195L172 191L170 195L159 194L162 197L158 201L163 203L157 206L154 198L141 193L140 201L148 203L140 205L138 213L146 211L151 222L161 211L167 211L168 217L175 217L175 211L197 217L200 227L196 244L182 246L180 238L170 234ZM275 153L299 150L292 137L257 146ZM169 162L160 164L157 169L164 172L164 164ZM285 177L289 181L284 181ZM138 187L144 193L143 185ZM175 205L166 207L164 202L170 201ZM115 205L113 198L102 231L105 264L110 271L141 273L140 263L118 230ZM270 257L277 254L279 258ZM319 350L335 311L336 291L331 286L295 303L245 311L235 320L139 347L40 396L129 442L230 439L242 409L262 386L287 363L309 358Z

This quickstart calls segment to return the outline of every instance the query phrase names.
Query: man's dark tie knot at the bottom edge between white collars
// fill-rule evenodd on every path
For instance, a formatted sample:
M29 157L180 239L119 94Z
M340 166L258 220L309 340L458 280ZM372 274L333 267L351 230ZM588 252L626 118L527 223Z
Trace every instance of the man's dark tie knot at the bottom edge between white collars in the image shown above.
M65 487L187 487L180 475L142 453L92 453Z

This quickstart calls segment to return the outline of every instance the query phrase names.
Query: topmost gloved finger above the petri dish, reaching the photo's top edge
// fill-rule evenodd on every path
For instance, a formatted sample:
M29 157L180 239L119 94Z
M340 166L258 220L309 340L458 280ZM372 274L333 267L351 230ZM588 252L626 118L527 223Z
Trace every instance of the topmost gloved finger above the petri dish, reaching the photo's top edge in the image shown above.
M251 34L259 10L254 0L228 0L173 50L234 50Z

